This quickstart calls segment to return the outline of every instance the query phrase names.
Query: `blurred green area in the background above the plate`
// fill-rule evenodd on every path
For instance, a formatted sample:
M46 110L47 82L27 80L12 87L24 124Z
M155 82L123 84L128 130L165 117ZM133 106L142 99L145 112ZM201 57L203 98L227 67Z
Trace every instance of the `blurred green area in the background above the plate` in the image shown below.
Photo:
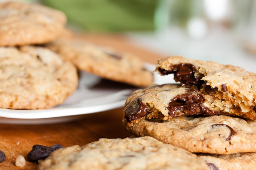
M87 31L154 30L158 0L40 0L63 11L72 26Z

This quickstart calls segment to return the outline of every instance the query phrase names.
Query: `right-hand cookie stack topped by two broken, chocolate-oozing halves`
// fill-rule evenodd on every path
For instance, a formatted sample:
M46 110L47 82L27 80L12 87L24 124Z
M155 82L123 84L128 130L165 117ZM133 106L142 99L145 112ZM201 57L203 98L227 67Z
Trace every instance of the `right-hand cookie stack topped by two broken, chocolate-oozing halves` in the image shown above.
M156 71L181 85L134 91L123 117L129 132L198 153L212 170L256 167L256 74L180 56L159 60Z

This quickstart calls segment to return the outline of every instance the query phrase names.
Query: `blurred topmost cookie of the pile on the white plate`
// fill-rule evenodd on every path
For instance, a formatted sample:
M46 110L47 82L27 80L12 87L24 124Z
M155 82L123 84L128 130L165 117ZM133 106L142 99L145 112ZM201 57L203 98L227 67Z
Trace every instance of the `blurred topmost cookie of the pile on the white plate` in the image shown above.
M0 3L0 11L0 46L51 42L67 20L61 11L32 3Z

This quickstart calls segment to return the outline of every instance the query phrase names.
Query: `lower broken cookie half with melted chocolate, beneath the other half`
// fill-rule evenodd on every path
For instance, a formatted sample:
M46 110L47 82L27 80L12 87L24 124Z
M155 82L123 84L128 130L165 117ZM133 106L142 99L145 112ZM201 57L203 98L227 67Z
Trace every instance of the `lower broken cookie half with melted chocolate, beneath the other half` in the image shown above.
M228 115L227 107L209 94L179 84L151 85L134 91L125 102L123 121L129 126L141 119L162 120L189 115Z

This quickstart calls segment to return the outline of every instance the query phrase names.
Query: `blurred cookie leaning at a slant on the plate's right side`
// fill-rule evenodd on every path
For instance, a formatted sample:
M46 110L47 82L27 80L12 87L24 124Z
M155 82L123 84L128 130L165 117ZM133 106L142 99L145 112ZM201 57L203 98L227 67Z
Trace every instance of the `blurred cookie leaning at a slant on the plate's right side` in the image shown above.
M47 47L64 60L73 62L79 70L105 79L135 86L149 86L153 82L153 74L145 70L143 61L132 54L68 38L59 39Z

